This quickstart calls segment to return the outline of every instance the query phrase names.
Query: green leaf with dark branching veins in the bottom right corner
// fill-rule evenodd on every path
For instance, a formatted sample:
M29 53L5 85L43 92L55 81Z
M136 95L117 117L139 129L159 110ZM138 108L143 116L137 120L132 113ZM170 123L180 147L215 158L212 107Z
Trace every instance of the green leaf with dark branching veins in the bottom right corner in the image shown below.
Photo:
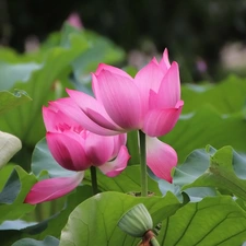
M187 203L162 222L157 236L161 246L241 246L245 239L246 213L231 197Z

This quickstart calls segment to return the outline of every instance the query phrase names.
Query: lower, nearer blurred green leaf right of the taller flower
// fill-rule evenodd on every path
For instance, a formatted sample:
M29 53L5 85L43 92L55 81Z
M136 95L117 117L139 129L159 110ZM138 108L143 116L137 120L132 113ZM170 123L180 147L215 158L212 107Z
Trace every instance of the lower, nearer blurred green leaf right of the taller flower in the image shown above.
M196 113L183 115L175 128L161 140L171 144L178 153L179 163L195 149L211 144L215 149L233 145L246 152L246 121L243 112L227 117L221 116L212 106L201 107Z

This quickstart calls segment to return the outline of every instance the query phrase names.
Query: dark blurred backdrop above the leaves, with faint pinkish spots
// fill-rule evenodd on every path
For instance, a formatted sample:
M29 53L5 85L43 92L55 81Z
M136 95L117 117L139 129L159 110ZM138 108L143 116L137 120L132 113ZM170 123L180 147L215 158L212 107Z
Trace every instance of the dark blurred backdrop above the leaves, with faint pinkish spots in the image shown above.
M183 82L245 74L245 0L1 0L0 43L24 51L44 42L72 12L83 26L127 51L125 63L141 67L168 47Z

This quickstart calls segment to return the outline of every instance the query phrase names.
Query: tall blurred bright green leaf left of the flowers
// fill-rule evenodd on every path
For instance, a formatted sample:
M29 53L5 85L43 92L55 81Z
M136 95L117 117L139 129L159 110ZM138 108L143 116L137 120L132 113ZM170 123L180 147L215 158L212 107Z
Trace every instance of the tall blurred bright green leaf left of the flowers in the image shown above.
M77 37L71 36L71 43L73 38ZM48 101L56 99L57 85L62 86L58 81L59 75L86 47L87 44L84 42L81 43L79 48L77 45L70 49L56 47L47 51L43 66L33 71L27 81L17 82L13 85L13 87L28 93L33 102L22 105L17 109L12 109L4 115L4 118L0 118L1 129L15 134L26 145L34 145L42 139L45 136L42 107Z

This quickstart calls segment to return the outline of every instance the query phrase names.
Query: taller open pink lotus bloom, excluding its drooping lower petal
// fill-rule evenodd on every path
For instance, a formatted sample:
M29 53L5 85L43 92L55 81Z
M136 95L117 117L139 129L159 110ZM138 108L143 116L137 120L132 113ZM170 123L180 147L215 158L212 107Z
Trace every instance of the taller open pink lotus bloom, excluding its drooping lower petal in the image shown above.
M99 65L92 74L92 87L95 98L67 90L81 108L73 119L104 136L140 129L161 137L174 128L184 105L178 65L169 63L166 49L161 62L154 58L134 79L118 68Z

